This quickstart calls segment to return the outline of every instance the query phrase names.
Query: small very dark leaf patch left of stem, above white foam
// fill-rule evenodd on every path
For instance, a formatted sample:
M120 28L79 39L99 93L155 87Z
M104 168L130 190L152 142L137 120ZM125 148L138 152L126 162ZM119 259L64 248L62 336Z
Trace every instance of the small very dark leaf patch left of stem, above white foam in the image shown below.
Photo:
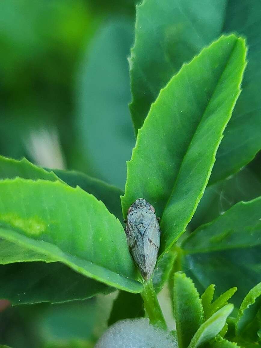
M140 294L119 291L118 297L113 302L108 325L127 318L144 317L143 300Z

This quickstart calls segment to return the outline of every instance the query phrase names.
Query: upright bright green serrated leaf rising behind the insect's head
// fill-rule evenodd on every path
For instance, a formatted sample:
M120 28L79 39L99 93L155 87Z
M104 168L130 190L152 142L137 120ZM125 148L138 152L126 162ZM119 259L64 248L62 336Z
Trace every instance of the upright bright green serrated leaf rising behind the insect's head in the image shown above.
M245 42L235 35L203 49L161 90L139 129L122 211L126 216L140 197L156 208L162 216L160 253L184 232L203 195L240 93L245 55Z

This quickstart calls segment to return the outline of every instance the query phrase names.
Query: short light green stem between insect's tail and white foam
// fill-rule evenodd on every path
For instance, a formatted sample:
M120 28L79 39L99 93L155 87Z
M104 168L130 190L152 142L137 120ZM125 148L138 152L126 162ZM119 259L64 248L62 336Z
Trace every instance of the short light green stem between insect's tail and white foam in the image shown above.
M157 295L153 287L152 278L150 280L147 280L147 282L144 282L143 286L144 288L143 292L141 293L141 296L143 298L144 309L148 314L150 323L152 325L160 327L163 330L167 330L167 324L165 322L163 313L161 311L157 299Z

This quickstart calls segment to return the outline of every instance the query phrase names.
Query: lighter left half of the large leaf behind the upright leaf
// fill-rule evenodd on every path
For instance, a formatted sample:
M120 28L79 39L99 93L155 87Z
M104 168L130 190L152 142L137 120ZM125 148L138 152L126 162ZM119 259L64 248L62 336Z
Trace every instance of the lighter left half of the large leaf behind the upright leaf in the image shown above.
M223 25L220 13L225 6L225 0L218 5L206 1L143 0L136 6L135 41L130 56L130 112L135 134L160 89L182 64L219 37Z

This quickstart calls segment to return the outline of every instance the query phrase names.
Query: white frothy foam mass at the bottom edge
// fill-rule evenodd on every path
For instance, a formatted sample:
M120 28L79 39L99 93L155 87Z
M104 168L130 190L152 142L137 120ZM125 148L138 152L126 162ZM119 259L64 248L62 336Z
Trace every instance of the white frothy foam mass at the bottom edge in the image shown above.
M125 319L108 328L95 348L177 348L166 331L149 324L148 319Z

